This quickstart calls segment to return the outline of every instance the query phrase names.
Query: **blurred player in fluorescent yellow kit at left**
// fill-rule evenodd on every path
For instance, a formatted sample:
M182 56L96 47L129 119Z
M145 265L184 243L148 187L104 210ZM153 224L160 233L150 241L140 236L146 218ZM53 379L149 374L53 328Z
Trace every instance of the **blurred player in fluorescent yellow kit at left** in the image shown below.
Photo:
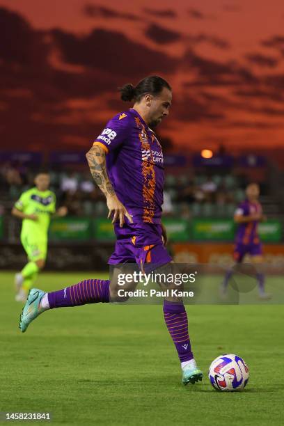
M47 231L50 217L55 214L55 194L49 191L49 174L36 175L36 187L25 191L13 207L12 214L22 219L21 242L29 262L15 275L16 301L26 301L26 294L45 266ZM66 207L58 209L57 216L65 216Z

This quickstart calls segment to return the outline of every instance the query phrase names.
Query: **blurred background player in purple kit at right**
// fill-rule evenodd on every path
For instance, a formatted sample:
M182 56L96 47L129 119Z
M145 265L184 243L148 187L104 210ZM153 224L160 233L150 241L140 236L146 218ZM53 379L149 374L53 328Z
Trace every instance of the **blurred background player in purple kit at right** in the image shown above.
M249 254L251 262L255 266L263 263L262 244L258 235L258 223L265 220L262 214L262 207L258 200L260 187L251 183L246 187L246 199L239 204L235 211L234 220L238 224L235 236L235 246L233 257L237 264L244 260L244 256ZM228 283L232 277L233 269L226 272L221 292L226 295ZM256 278L258 281L258 295L260 299L270 299L271 295L265 293L265 276L262 271L256 268Z

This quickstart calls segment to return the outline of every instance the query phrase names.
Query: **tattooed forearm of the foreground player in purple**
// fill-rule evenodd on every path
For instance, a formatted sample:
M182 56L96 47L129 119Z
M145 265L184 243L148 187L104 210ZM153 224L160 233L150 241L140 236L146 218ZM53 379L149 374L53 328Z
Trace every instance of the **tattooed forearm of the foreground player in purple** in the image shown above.
M106 153L100 145L93 145L86 153L86 158L90 167L90 173L104 195L115 195L116 193L107 175Z

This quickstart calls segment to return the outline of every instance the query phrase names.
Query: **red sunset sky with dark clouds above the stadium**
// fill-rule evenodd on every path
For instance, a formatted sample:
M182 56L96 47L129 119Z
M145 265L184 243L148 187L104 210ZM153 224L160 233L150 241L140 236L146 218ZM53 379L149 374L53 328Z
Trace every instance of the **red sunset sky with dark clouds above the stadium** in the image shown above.
M284 148L283 1L1 0L0 37L6 149L88 148L154 73L180 150Z

